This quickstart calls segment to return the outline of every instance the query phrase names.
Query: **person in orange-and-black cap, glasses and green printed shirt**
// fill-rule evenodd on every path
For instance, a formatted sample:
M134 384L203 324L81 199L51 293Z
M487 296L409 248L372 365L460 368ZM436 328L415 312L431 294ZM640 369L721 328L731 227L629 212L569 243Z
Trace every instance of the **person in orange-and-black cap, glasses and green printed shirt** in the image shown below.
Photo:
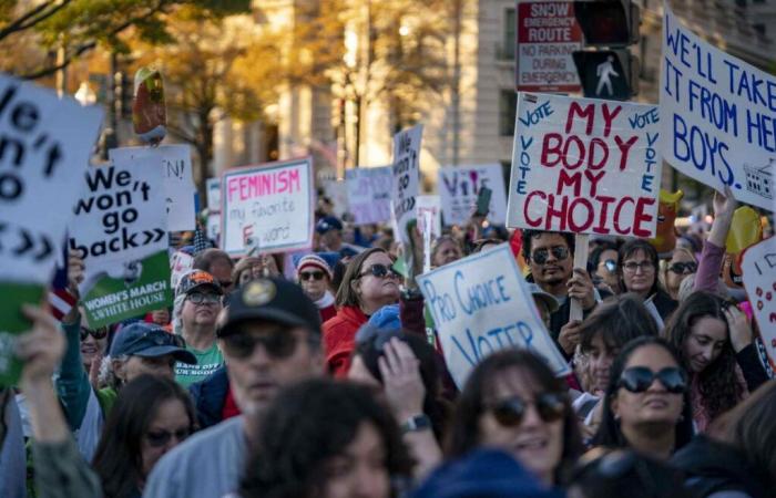
M186 350L196 357L196 365L178 362L175 380L188 386L204 380L224 363L215 336L224 291L212 274L194 270L181 279L176 293L183 297L182 305L175 311L181 320L181 335L186 341Z

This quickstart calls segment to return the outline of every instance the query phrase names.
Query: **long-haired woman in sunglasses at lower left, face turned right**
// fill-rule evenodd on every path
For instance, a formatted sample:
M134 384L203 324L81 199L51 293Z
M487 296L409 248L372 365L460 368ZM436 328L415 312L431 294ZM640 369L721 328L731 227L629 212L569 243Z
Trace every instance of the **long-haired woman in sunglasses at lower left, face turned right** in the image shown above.
M192 400L174 381L141 375L126 384L92 463L105 498L139 498L156 461L188 437L194 425Z

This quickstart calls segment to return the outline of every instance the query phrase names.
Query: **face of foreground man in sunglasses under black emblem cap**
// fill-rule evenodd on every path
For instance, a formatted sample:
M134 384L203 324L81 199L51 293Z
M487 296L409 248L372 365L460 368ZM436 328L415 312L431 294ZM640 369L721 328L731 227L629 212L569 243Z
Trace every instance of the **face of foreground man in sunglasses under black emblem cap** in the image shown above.
M248 415L264 409L282 387L323 373L320 345L302 328L248 321L221 339L221 346L235 403Z

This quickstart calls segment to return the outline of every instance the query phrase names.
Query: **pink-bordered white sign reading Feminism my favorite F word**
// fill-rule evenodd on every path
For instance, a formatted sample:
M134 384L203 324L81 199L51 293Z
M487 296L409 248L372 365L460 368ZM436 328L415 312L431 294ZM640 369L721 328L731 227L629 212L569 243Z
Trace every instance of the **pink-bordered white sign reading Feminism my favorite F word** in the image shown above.
M255 240L263 252L309 248L313 194L309 157L224 173L222 249L229 256L245 256L248 240Z

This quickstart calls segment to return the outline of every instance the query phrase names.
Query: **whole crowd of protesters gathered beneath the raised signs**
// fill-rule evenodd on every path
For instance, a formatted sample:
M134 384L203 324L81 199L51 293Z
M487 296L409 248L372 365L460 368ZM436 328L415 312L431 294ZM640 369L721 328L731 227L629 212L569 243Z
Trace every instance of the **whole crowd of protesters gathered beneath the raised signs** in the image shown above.
M593 240L586 268L570 234L477 216L439 237L435 268L510 245L573 371L506 349L461 386L415 280L422 243L329 208L307 253L173 248L195 259L170 309L92 328L79 305L24 308L0 496L776 496L776 382L719 279L732 197L693 243ZM71 252L76 297L84 269Z

